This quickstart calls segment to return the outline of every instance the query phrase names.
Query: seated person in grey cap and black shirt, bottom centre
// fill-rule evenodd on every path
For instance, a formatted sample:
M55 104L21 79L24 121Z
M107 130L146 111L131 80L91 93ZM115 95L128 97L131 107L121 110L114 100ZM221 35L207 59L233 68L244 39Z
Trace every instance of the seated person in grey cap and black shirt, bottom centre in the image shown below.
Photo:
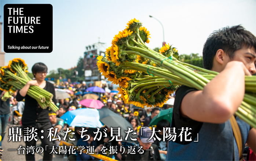
M157 145L152 144L154 139L150 139L151 135L152 130L149 127L143 127L139 130L139 135L137 138L139 144L135 148L135 154L127 154L127 161L161 160ZM140 151L143 153L140 154Z

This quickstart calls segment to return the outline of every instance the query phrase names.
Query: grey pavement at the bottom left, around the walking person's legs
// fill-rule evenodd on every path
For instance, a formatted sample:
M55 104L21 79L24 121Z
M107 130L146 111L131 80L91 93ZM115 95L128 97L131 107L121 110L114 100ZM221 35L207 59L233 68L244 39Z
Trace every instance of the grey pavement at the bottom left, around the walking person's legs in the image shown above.
M4 140L2 140L2 148L4 149L4 151L2 152L3 156L1 157L2 161L25 161L25 154L18 154L18 148L20 146L22 147L26 147L26 144L23 140L23 137L21 138L20 142L12 142L12 140L10 140L10 142L8 142L9 140L9 128L11 127L21 127L19 126L13 126L10 124L10 122L8 123L7 127L6 127L6 135L4 136ZM36 147L39 147L41 144L41 141L39 138L37 138L37 144ZM11 150L11 149L16 149L16 150ZM26 153L26 151L25 151ZM43 160L43 153L39 154L35 152L35 159L36 161L41 161ZM58 155L58 154L54 154L53 155L53 160L54 161L67 161L67 158L64 155Z

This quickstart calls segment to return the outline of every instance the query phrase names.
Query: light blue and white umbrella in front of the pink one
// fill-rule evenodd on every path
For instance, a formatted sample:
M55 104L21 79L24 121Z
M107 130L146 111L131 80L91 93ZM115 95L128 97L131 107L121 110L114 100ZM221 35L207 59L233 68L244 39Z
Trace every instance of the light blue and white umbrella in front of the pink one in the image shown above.
M81 108L67 111L61 118L69 126L100 128L103 124L99 121L99 111L96 109Z

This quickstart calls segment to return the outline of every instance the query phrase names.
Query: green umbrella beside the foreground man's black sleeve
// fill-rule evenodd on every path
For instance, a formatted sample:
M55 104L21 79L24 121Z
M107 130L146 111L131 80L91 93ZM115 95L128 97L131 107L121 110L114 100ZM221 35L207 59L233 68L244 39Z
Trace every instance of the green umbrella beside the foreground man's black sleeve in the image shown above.
M157 116L155 116L149 125L156 125L160 120L168 120L170 123L172 122L172 110L173 108L161 110Z

